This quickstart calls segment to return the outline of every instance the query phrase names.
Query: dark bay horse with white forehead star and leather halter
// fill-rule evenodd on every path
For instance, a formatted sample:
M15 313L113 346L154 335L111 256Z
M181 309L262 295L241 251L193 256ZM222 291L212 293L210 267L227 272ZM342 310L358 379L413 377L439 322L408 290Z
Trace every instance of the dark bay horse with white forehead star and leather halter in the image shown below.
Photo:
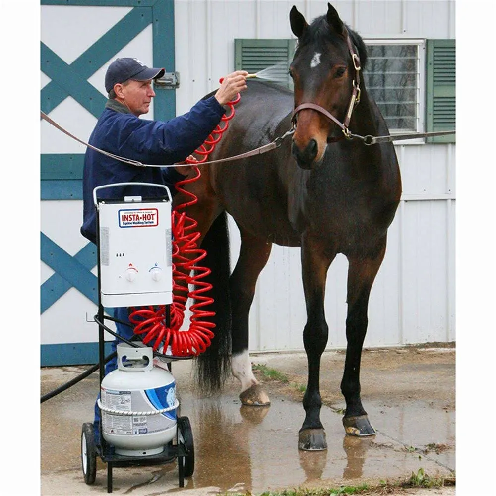
M325 450L319 372L328 339L324 315L327 271L336 254L347 257L347 348L340 385L346 400L345 433L373 435L360 397L360 362L369 295L400 201L401 178L391 142L366 146L352 139L352 131L362 136L389 134L360 77L367 62L360 35L330 4L327 13L311 24L295 6L289 20L297 38L289 66L294 91L249 80L236 115L209 160L255 149L294 126L291 139L263 155L199 165L201 177L185 185L198 197L186 214L198 223L201 248L208 252L202 264L212 270L209 281L215 302L209 310L216 313L215 339L199 356L197 372L204 387L212 390L222 387L232 372L240 381L244 405L270 404L251 370L248 314L272 244L300 247L308 381L298 448ZM184 194L178 193L174 201L185 201ZM232 273L226 212L241 237Z

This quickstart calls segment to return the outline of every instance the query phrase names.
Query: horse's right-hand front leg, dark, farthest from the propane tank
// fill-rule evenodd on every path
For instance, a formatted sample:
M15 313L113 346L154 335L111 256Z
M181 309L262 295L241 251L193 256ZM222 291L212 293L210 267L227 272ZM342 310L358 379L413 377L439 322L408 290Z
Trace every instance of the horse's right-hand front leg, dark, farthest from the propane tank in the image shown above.
M386 239L368 256L348 256L348 314L346 317L346 361L341 392L346 400L343 425L346 434L375 434L360 399L360 362L367 332L369 295L386 249Z

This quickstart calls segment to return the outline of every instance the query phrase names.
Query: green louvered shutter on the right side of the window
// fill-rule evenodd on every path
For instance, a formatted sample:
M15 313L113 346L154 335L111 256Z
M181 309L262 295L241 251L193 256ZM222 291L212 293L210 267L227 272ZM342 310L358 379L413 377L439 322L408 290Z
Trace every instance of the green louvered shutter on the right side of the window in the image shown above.
M455 40L427 40L426 130L455 129ZM428 138L429 143L454 143L455 135Z

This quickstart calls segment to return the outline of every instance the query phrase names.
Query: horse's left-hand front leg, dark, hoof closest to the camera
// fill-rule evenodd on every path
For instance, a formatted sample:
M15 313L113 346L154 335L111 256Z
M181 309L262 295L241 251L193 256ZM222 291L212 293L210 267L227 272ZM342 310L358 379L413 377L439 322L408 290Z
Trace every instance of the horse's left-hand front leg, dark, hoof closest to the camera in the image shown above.
M305 420L298 433L298 448L327 449L325 431L320 422L320 357L327 344L328 327L324 315L324 292L327 270L335 253L329 256L324 247L310 239L302 244L302 278L307 323L303 329L303 344L307 353L308 379L303 396Z

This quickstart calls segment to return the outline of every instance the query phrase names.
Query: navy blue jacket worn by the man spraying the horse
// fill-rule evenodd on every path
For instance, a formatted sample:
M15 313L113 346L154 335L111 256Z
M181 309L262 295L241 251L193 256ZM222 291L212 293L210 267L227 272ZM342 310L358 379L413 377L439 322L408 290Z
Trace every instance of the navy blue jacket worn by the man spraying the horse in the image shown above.
M167 122L139 119L115 100L108 100L89 144L143 164L174 164L193 153L219 124L225 109L215 97L200 100L189 112ZM113 183L153 183L170 188L184 176L174 168L138 167L86 148L83 169L81 234L96 244L93 189ZM173 191L171 191L172 193ZM98 191L98 198L163 196L162 188L117 186Z

